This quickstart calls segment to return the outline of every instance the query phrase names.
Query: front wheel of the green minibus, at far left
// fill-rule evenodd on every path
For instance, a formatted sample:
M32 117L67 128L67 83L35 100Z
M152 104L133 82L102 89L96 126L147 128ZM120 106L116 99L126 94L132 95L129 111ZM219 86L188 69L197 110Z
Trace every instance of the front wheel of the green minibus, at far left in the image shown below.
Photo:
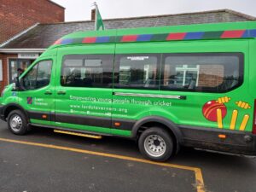
M7 118L7 123L9 130L16 135L24 135L29 130L26 117L20 110L10 112Z

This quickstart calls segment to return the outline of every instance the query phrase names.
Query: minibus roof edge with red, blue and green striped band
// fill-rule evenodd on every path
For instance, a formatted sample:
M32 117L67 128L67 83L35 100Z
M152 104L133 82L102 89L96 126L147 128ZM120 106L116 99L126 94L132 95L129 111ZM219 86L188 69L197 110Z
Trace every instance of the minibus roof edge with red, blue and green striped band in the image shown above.
M256 38L256 21L74 32L57 40L52 47L66 44L108 44L223 38Z

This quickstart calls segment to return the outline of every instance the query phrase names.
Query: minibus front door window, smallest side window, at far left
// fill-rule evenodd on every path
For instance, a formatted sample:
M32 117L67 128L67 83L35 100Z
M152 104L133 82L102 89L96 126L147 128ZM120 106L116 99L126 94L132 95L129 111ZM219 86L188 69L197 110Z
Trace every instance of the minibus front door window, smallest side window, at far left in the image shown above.
M23 78L25 90L36 90L47 86L50 81L52 61L40 61Z

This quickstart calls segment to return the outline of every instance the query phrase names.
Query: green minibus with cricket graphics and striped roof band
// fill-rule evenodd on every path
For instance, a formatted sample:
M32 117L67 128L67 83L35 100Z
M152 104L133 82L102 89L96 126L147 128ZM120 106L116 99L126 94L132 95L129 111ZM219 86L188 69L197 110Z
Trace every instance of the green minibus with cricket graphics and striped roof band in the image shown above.
M256 22L75 32L3 90L0 116L137 141L149 160L182 146L256 154Z

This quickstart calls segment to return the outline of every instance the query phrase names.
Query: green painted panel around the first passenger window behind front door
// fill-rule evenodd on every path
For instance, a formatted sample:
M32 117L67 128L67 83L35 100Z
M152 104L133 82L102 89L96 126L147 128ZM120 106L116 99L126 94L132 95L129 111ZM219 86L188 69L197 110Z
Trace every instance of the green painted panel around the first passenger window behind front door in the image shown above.
M83 59L87 59L88 55L93 54L108 54L113 62L114 45L96 45L93 48L91 46L76 46L58 49L59 65L57 66L57 80L55 82L55 125L111 134L111 113L106 108L112 108L112 87L102 89L91 88L90 86L61 85L61 67L65 55L84 55ZM97 58L97 56L89 56L90 60L93 58ZM71 68L71 70L74 71L75 68ZM65 94L60 94L61 90L65 91ZM85 117L87 118L84 119ZM73 125L76 125L75 128ZM100 125L104 128L99 128Z

